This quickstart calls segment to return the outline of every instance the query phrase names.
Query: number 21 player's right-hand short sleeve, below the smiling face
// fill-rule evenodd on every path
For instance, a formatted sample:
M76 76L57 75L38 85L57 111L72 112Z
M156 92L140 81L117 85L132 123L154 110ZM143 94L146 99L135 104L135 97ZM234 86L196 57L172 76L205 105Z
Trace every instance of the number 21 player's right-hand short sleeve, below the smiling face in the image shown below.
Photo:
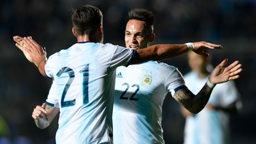
M110 68L115 69L119 66L128 67L135 56L136 50L116 46L110 60Z

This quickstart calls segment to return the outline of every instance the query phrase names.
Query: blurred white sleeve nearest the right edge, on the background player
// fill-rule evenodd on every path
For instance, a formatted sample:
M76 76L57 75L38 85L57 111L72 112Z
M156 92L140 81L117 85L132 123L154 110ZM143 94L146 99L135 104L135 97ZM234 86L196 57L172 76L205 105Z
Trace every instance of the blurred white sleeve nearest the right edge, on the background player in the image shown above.
M218 90L219 94L219 102L222 107L227 107L234 102L240 101L240 94L234 81L231 80L222 84L217 84L215 88L216 87L216 91Z

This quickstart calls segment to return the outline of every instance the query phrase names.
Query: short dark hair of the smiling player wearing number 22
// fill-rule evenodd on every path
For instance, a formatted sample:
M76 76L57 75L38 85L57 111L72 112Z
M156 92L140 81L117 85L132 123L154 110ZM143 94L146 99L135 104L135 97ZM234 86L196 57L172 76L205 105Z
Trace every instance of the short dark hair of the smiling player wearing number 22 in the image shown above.
M135 8L129 12L129 20L144 21L148 26L151 26L152 32L155 24L155 15L146 9Z

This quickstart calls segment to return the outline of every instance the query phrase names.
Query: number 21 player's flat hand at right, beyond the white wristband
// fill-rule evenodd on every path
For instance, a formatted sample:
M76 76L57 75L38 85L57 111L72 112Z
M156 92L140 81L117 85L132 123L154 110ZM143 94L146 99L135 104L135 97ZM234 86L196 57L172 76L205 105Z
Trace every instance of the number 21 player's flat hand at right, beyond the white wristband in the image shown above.
M204 52L205 49L207 49L207 48L221 49L222 48L221 45L215 45L215 44L208 43L208 42L194 42L193 44L194 44L193 51L198 55L203 55L203 56L206 56L206 57L208 57L209 54Z

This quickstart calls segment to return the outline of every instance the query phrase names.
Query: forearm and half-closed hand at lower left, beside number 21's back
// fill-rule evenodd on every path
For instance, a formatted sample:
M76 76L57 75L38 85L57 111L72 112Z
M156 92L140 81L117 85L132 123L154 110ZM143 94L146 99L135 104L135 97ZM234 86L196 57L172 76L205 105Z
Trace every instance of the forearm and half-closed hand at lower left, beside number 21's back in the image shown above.
M35 124L38 128L44 129L53 121L54 117L59 113L59 108L46 105L36 106L32 117L35 119Z

